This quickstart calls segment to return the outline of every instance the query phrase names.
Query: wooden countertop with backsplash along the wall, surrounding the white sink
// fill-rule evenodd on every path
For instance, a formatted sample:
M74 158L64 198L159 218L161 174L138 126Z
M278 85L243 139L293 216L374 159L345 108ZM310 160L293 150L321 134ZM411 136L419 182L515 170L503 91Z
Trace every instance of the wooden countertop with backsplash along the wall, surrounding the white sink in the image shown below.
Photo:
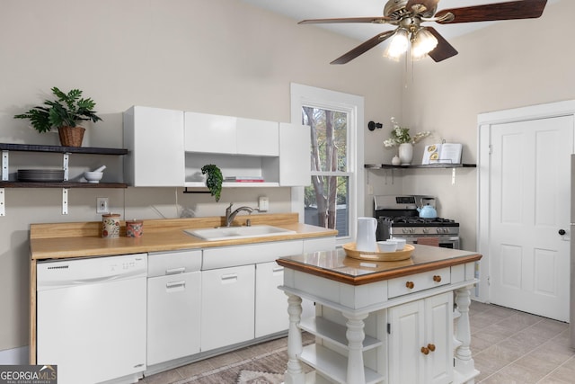
M222 217L192 219L144 220L142 237L126 237L126 224L121 222L120 237L102 238L102 222L31 224L30 249L32 260L83 256L127 255L144 252L174 251L212 246L239 246L297 238L335 236L336 230L314 227L298 222L296 213L242 215L234 225L267 224L295 231L274 237L252 237L234 240L207 241L190 236L183 229L214 228L225 221Z

